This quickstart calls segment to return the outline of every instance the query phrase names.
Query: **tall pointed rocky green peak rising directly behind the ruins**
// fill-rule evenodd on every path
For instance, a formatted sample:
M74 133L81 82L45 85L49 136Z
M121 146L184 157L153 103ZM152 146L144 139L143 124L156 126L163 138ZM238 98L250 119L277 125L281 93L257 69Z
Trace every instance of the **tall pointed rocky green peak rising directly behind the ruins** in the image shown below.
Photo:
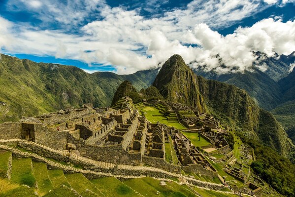
M180 55L173 55L164 63L153 86L168 101L197 107L200 112L206 109L195 83L195 75Z

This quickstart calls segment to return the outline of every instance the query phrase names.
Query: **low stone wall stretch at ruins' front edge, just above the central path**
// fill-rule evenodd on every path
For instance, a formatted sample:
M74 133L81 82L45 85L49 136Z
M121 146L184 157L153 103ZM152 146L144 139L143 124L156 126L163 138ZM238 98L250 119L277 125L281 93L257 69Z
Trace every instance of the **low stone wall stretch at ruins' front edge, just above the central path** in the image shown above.
M173 165L173 164L167 163L164 158L152 158L152 157L142 156L142 164L148 165L151 167L160 168L168 172L181 173L181 168L179 165Z

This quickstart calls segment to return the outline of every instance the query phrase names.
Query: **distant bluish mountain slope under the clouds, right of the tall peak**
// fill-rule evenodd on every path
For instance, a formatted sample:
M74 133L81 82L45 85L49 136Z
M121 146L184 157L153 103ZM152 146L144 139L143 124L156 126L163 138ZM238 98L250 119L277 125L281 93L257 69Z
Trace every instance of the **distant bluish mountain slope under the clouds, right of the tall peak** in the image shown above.
M204 72L204 68L195 69L194 72L206 79L214 79L242 88L260 107L272 110L281 103L282 91L277 81L288 74L290 66L281 61L277 54L274 57L267 57L266 54L258 51L255 55L257 59L251 72L218 74L214 70ZM267 70L262 72L260 70L262 67Z

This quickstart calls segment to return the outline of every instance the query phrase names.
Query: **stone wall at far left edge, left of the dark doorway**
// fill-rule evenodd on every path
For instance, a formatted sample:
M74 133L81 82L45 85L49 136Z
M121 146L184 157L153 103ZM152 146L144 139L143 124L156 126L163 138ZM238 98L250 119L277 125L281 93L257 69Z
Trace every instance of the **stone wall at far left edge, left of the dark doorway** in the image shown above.
M24 139L22 124L19 122L4 122L0 124L0 139Z

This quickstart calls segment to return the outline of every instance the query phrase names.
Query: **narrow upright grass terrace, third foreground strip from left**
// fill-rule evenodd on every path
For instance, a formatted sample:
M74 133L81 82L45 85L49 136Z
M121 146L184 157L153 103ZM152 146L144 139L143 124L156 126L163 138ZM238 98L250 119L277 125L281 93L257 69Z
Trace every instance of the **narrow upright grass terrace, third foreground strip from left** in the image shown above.
M38 194L44 196L54 187L49 179L46 163L33 162L33 172L38 184Z

